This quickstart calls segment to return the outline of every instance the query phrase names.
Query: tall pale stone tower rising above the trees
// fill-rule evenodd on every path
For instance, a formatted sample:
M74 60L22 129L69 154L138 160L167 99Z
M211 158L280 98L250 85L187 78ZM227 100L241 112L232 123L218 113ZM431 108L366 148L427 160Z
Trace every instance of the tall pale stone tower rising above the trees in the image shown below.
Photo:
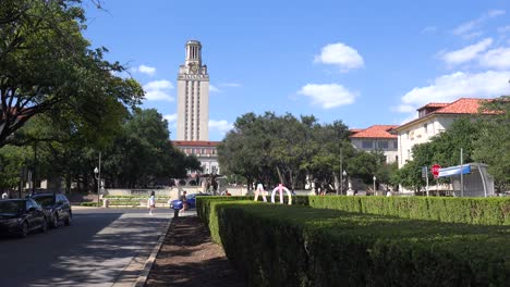
M202 63L202 43L190 40L179 67L177 140L209 140L209 75Z

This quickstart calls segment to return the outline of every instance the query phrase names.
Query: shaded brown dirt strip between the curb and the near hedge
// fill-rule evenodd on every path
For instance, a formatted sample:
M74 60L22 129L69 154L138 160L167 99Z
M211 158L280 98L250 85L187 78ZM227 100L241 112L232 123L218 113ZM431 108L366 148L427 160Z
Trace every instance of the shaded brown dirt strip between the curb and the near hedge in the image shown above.
M137 287L244 287L223 248L211 241L210 233L196 212L174 219L155 255L145 285Z

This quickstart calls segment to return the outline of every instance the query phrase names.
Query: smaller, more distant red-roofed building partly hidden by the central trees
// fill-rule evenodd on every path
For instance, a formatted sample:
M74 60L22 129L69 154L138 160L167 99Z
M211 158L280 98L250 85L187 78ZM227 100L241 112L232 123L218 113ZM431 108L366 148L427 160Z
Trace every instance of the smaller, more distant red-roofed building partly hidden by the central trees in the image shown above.
M373 125L365 129L351 128L349 137L351 144L357 150L375 151L379 150L386 157L387 163L392 163L398 160L398 141L397 135L392 130L397 125Z

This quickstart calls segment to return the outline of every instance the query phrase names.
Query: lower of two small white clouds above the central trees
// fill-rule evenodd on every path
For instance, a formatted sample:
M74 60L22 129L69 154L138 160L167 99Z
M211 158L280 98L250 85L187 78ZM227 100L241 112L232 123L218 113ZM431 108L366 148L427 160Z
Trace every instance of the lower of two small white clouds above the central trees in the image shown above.
M356 92L352 92L338 84L306 84L298 93L312 98L313 104L319 104L324 109L351 104L357 96Z

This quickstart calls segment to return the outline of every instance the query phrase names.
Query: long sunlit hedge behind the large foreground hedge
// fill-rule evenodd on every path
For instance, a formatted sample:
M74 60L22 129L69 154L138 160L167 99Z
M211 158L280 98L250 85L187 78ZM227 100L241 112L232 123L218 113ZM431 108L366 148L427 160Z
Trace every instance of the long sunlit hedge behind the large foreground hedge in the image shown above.
M445 223L510 225L510 198L311 196L308 204Z

